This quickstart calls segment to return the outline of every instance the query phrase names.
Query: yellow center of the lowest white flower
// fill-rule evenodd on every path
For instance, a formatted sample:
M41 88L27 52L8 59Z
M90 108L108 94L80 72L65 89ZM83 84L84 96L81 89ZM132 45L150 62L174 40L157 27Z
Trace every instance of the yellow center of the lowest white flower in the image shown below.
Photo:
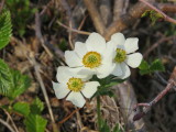
M67 82L68 89L75 92L78 92L84 87L84 81L80 78L69 78Z

